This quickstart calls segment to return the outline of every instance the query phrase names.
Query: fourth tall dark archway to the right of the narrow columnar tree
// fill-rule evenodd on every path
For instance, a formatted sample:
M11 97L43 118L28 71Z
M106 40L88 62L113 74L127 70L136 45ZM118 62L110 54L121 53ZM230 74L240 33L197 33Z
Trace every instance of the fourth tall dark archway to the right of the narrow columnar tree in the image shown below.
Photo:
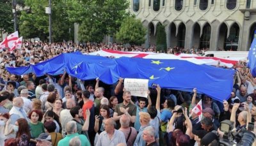
M209 24L205 24L203 33L200 39L200 48L209 48L211 41L211 26Z

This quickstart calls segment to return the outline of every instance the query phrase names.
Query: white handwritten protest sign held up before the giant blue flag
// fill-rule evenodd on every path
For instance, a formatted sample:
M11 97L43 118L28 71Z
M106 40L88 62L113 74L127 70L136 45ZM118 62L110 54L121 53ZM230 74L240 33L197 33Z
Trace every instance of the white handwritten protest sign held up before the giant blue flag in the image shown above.
M130 91L132 96L140 96L147 98L148 94L148 80L137 78L125 78L124 88Z

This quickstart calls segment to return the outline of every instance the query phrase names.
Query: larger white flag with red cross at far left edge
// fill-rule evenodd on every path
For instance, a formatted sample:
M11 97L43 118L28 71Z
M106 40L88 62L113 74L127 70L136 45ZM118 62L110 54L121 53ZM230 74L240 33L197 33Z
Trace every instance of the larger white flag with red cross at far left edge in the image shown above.
M14 33L10 34L4 40L0 43L0 50L3 48L11 48L13 43L19 39L19 33L18 31L15 31Z

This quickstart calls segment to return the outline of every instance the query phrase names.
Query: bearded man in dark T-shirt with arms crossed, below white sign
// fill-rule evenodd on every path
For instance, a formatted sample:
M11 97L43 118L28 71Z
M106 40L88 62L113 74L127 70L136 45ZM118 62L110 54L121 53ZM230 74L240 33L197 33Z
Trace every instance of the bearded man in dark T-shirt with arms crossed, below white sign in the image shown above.
M119 103L115 107L115 112L114 112L113 118L116 121L117 129L120 128L119 120L120 120L121 115L123 115L123 114L127 115L131 119L130 126L131 127L134 126L137 109L136 109L136 105L131 103L131 97L132 97L132 95L131 95L130 91L124 91L124 94L123 94L124 101L122 103Z

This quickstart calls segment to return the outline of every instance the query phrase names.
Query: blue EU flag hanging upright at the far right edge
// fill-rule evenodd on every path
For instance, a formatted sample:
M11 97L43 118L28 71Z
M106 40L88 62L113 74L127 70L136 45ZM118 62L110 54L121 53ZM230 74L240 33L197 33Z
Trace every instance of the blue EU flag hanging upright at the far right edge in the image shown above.
M256 77L256 30L254 31L252 45L248 53L247 66L251 69L253 77Z

